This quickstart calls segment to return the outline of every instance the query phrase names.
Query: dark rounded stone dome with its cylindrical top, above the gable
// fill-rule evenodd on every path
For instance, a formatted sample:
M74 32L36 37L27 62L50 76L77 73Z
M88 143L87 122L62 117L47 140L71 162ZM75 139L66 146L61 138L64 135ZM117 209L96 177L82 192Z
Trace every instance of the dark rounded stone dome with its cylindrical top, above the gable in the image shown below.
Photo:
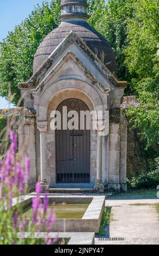
M39 45L34 57L34 74L71 31L75 32L84 40L90 50L102 60L111 72L116 72L116 62L112 47L109 45L108 41L95 29L90 27L85 20L87 19L86 7L87 3L85 0L62 0L62 16L60 16L62 23L48 34Z

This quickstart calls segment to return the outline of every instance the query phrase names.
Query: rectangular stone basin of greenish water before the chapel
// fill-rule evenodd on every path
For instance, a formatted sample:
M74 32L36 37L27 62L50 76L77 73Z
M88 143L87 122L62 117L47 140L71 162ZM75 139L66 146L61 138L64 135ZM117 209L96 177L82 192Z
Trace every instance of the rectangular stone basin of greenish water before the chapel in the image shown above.
M19 202L15 198L13 202L13 206L20 204L23 209L23 218L27 220L30 220L32 216L30 209L33 197L35 197L34 193L21 197ZM44 194L40 197L42 200ZM48 211L53 207L55 212L57 211L57 219L50 235L70 237L69 244L86 244L82 237L85 237L87 233L87 244L93 244L95 233L98 233L100 229L105 196L53 196L48 194L48 198L50 204ZM78 237L77 240L76 237Z

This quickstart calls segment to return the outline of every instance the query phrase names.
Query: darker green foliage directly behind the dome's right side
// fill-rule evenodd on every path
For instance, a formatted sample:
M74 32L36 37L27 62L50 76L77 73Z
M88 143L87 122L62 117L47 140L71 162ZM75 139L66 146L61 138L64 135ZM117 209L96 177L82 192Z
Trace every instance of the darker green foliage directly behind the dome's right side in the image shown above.
M95 23L95 28L111 44L117 61L117 75L119 80L130 80L124 63L123 50L127 45L127 19L133 17L133 3L136 0L109 0L106 8L101 12L101 18Z

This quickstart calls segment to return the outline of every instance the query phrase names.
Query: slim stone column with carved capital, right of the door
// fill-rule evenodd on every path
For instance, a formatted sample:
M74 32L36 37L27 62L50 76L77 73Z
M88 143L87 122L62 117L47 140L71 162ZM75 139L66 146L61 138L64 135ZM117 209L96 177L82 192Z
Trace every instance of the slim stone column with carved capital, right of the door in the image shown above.
M105 124L102 121L97 126L97 167L96 167L96 183L94 190L97 192L104 192L104 186L102 182L102 144L103 144L103 131L105 130Z

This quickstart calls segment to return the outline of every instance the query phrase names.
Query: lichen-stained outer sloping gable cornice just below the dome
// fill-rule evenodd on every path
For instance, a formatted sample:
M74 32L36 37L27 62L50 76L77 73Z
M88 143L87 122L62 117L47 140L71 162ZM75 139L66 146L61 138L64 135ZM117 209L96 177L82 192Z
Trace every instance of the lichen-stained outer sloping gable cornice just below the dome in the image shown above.
M75 33L71 32L66 38L59 44L59 46L52 52L46 62L39 68L39 70L25 83L20 83L19 88L23 89L35 89L37 85L42 81L42 77L48 72L52 64L56 59L60 57L62 52L66 51L70 45L76 44L76 46L87 56L90 63L96 67L99 72L104 75L114 87L125 88L127 83L118 81L117 78L109 71L101 60L90 50L90 48L79 38ZM63 57L64 58L64 57ZM76 57L78 58L78 57Z

